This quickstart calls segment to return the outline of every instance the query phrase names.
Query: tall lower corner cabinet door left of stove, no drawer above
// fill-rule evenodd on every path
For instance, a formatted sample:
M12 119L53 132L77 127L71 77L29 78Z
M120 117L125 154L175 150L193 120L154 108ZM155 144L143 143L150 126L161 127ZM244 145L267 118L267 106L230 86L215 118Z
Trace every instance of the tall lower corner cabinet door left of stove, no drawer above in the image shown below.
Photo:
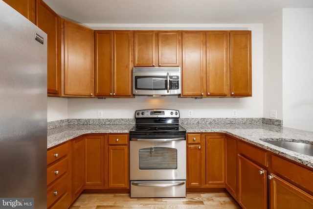
M104 186L103 136L85 137L85 186Z

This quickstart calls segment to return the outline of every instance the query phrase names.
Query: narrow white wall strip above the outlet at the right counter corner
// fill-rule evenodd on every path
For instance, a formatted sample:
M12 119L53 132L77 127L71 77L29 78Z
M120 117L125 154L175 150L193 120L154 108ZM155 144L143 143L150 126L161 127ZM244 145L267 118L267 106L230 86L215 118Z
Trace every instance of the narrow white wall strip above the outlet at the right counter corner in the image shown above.
M263 116L277 111L283 119L283 11L280 10L264 22Z

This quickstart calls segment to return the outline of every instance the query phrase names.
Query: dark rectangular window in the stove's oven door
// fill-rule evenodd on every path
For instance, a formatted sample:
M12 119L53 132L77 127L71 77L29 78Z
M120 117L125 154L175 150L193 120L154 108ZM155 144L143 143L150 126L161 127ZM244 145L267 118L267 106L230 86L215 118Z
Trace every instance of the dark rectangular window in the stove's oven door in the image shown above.
M139 169L177 169L177 149L168 147L139 149Z

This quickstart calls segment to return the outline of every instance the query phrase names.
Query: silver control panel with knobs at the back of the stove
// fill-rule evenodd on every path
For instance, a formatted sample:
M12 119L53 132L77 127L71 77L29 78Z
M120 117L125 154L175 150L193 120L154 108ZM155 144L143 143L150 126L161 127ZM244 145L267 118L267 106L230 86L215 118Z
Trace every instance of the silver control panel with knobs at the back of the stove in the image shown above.
M175 117L179 118L178 110L168 109L149 109L149 110L136 110L135 118L139 117Z

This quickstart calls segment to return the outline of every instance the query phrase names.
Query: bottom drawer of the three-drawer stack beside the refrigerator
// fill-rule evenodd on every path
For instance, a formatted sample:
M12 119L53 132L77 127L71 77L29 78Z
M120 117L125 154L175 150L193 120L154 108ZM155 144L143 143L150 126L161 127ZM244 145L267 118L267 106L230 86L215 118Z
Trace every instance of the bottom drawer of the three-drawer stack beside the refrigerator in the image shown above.
M47 208L67 192L67 174L47 188Z

